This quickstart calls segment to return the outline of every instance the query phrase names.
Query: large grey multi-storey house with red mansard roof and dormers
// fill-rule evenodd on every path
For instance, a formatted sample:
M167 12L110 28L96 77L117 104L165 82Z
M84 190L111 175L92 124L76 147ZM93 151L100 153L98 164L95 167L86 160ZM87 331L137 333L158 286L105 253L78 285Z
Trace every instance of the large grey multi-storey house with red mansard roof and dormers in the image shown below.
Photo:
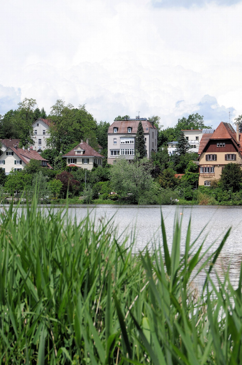
M145 137L145 153L151 158L152 152L157 152L157 128L147 118L114 120L108 128L108 163L115 164L118 156L127 160L134 159L135 137L138 123L142 123Z

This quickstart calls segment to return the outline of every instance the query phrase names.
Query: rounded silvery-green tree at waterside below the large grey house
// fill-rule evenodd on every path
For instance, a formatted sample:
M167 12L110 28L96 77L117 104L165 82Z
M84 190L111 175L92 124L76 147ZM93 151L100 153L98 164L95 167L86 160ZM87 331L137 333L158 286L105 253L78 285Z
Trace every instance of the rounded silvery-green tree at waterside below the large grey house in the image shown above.
M119 158L110 170L110 178L115 192L123 196L132 194L133 201L136 203L144 191L150 191L153 187L151 175L137 160L129 164L125 158Z

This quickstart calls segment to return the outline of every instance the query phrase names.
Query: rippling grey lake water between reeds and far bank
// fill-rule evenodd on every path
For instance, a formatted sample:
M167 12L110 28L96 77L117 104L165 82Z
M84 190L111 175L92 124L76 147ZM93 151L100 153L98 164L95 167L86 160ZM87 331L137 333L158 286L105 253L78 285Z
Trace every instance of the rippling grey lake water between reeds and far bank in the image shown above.
M54 207L54 210L59 209ZM42 206L42 209L46 209ZM176 214L182 218L182 247L186 239L186 232L191 216L192 232L191 240L198 237L203 230L202 235L196 242L200 246L206 237L203 250L206 250L211 244L215 250L221 242L223 236L229 227L232 227L229 238L216 265L219 275L229 269L230 280L236 285L239 278L240 264L242 260L242 207L222 207L222 206L175 206L163 205L145 205L145 206L115 206L115 205L73 205L69 207L69 215L79 222L85 218L87 212L95 219L95 224L100 224L100 219L106 221L112 219L117 226L118 235L129 235L136 237L136 250L142 250L147 244L162 245L161 237L161 210L165 220L168 245L171 248L173 238L173 223ZM121 238L120 238L121 239ZM204 275L200 276L199 284L202 284Z

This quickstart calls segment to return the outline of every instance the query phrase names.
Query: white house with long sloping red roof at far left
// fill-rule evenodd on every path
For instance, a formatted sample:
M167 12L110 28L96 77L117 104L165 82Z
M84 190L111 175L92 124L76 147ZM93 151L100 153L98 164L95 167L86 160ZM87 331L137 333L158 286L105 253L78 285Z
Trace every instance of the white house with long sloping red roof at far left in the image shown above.
M4 169L6 175L9 174L11 169L14 171L21 171L25 165L30 162L30 160L38 160L41 162L43 167L52 169L48 164L48 160L41 157L37 151L28 149L18 148L16 145L14 147L8 147L0 156L0 167Z

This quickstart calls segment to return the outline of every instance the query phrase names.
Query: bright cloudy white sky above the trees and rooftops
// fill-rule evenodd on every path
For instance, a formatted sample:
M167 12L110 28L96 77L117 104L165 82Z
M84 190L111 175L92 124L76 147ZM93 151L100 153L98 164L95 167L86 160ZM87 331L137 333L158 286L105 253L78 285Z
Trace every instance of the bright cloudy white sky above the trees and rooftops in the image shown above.
M242 114L242 0L8 0L1 4L0 114L57 99L99 122ZM229 115L230 112L230 115Z

